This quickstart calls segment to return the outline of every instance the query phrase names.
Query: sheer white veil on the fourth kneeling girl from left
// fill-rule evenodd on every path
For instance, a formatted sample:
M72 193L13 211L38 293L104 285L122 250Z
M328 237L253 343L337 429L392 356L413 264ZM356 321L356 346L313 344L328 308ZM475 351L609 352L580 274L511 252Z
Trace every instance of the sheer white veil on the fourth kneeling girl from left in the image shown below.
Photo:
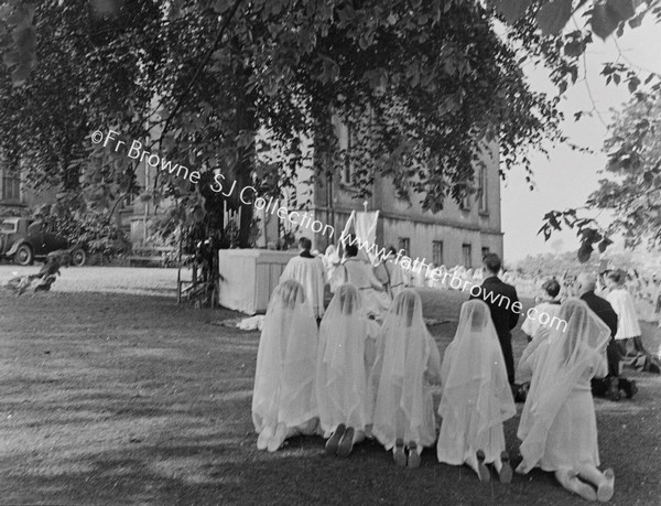
M466 423L466 443L478 441L497 423L517 413L505 358L489 306L464 302L459 325L441 366L443 394L438 415Z

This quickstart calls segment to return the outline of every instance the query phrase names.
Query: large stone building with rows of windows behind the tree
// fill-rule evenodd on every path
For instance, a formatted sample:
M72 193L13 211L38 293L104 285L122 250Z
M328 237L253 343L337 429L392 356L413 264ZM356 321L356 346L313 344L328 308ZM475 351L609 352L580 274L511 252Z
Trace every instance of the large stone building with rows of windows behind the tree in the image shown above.
M334 119L340 150L349 149L349 134L346 127ZM308 143L310 150L314 149ZM254 209L260 217L261 234L257 247L272 247L283 232L296 237L308 236L314 248L324 250L335 244L351 214L362 211L367 204L369 211L379 211L376 243L379 247L394 246L405 250L411 258L425 259L434 265L479 267L481 257L487 251L502 256L502 232L500 225L500 176L497 147L491 155L485 159L484 168L477 168L476 182L478 193L457 205L446 198L443 211L433 214L423 211L420 196L412 195L412 203L395 196L393 183L384 177L377 177L371 198L365 203L356 198L358 191L351 185L349 163L345 164L340 174L332 180L316 177L311 183L312 166L297 174L295 190L286 191L289 198L281 204L290 209L306 211L314 219L329 225L335 230L333 237L313 234L300 226L266 215ZM137 184L143 191L151 187L156 175L156 168L141 163L137 171ZM21 184L18 174L7 168L0 168L0 212L4 215L29 213L30 207L54 202L54 192L35 195L33 191ZM149 241L150 222L158 218L166 209L166 202L158 207L150 201L130 197L118 207L115 219L127 233L133 246ZM230 219L230 216L227 216Z

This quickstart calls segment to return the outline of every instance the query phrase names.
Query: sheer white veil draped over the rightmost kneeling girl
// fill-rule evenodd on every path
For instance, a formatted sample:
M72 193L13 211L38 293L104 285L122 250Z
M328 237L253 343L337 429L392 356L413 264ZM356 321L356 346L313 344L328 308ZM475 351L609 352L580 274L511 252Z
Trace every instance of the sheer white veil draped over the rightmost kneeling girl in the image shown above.
M557 317L567 322L566 330L557 325L549 331L519 423L525 472L544 454L557 411L579 380L594 376L610 340L608 326L579 299L567 299Z

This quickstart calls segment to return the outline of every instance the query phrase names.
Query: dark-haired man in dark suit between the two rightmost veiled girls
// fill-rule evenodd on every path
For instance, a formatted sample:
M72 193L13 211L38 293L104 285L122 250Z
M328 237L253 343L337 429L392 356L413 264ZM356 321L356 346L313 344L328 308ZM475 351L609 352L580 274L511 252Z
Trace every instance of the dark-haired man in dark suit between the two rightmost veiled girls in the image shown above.
M485 280L481 283L479 294L470 290L470 299L484 300L491 311L491 321L500 341L500 348L507 367L507 377L512 388L514 387L514 356L512 354L511 330L517 326L521 303L517 295L517 289L507 284L498 278L502 262L496 254L487 254L483 259L485 268Z

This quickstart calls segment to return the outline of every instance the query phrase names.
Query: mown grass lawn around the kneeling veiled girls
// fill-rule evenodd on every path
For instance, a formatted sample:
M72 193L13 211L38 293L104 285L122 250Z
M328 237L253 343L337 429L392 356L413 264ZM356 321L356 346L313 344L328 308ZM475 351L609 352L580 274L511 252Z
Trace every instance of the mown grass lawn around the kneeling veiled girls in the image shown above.
M425 315L456 319L462 295L424 291ZM237 316L171 299L104 293L1 294L0 504L585 504L543 472L480 484L423 452L402 470L377 443L347 460L323 440L258 452L250 401L259 334L210 324ZM431 327L441 352L456 322ZM661 335L646 325L647 344ZM516 358L524 346L517 330ZM661 378L596 400L611 504L661 504ZM519 413L521 405L518 405ZM506 423L513 463L516 429ZM494 475L495 477L495 475Z

